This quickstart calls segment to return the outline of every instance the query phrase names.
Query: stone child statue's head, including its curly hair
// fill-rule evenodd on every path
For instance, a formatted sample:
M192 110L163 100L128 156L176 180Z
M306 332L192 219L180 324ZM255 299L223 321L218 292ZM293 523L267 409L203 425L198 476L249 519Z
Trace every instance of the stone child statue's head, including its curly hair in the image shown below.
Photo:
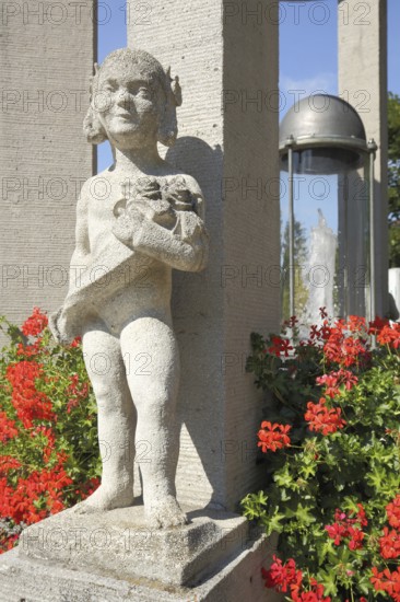
M170 147L177 136L178 78L144 50L122 48L95 66L83 130L93 144L141 144L150 137Z

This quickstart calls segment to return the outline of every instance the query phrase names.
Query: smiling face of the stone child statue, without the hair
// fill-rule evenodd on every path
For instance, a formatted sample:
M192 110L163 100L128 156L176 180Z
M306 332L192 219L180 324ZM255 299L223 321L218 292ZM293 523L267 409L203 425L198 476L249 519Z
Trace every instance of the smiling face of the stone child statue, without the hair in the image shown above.
M101 71L95 99L99 120L118 148L140 148L156 141L161 90L151 84L140 67L128 71L114 67Z

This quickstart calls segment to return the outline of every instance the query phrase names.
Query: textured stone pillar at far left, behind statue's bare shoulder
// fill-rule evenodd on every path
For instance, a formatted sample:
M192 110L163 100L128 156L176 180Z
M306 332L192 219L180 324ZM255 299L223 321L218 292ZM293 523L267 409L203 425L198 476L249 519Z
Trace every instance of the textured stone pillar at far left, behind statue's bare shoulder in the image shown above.
M79 7L78 4L81 4ZM0 314L21 323L66 296L75 204L93 173L82 135L95 2L2 2Z

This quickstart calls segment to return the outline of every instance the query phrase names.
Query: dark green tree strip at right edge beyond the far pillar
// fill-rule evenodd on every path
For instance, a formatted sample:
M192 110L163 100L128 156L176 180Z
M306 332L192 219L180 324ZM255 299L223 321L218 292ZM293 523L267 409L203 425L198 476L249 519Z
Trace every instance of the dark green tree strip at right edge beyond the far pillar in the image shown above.
M389 267L400 267L400 96L388 96Z

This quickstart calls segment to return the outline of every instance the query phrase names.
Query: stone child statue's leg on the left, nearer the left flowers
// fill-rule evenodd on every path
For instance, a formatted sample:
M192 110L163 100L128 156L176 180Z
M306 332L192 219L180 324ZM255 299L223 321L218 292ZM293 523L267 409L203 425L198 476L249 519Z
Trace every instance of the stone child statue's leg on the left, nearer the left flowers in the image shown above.
M98 323L86 328L82 344L97 402L103 475L98 489L75 507L79 513L132 506L136 428L136 410L118 338Z

